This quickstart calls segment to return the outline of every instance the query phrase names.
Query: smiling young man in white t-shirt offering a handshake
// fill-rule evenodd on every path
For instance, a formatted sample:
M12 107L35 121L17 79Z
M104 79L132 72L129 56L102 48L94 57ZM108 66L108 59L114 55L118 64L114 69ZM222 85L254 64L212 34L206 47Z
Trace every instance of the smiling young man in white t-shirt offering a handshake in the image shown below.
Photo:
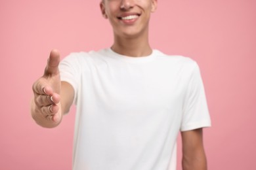
M50 54L33 84L32 117L60 124L74 102L74 170L173 170L182 135L183 169L207 169L202 127L211 125L195 61L152 50L148 23L157 0L104 0L114 44L98 52ZM59 65L60 62L60 65Z

